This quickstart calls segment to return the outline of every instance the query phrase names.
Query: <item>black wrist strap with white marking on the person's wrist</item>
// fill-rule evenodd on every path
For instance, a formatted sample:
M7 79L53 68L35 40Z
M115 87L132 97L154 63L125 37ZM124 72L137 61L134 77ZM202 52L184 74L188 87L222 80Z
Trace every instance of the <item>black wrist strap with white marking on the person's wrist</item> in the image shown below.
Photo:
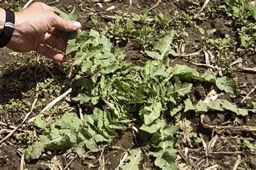
M0 48L8 44L15 29L15 13L8 9L4 10L6 13L6 19L4 24L4 30L2 32L2 36L0 37Z

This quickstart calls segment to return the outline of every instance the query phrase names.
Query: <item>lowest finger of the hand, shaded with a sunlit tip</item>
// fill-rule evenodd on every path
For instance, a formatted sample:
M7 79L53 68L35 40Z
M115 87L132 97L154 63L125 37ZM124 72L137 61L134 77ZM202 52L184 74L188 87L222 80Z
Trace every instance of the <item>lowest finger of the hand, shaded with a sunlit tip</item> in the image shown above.
M63 54L57 53L56 51L53 51L50 47L40 44L36 50L39 54L42 54L51 60L63 63L66 62L66 57Z

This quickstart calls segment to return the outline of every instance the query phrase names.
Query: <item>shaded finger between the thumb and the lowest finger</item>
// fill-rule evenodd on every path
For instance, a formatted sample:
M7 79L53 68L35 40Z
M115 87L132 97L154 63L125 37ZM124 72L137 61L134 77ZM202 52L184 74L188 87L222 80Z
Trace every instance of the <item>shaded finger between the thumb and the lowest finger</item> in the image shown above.
M48 37L44 40L44 43L59 49L60 51L66 51L66 42L60 40L58 37L53 36L52 34L48 34Z

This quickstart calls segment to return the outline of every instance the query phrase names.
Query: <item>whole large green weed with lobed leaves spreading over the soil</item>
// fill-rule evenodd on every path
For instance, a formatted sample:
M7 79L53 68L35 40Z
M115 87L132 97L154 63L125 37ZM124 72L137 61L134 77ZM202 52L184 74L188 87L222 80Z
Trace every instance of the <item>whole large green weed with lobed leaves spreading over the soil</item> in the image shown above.
M71 18L58 12L60 16ZM99 143L110 144L117 137L115 130L127 127L146 134L146 145L150 146L156 158L155 165L161 169L177 169L175 159L180 143L175 137L178 125L169 125L164 117L171 117L179 111L230 111L247 115L248 111L238 109L228 101L219 103L201 101L193 105L188 98L193 84L191 81L208 82L220 91L235 94L237 86L226 77L216 78L209 71L199 74L196 69L184 65L170 67L169 56L177 55L173 40L177 32L172 30L163 39L154 42L153 49L146 51L152 58L144 66L124 62L124 49L114 47L110 39L91 30L68 33L70 39L66 53L76 52L74 65L77 67L77 95L72 98L92 112L86 112L80 120L75 114L65 114L51 123L49 135L40 136L25 152L27 162L37 159L46 150L64 150L83 156L85 150L95 149ZM87 74L90 73L91 76ZM38 120L38 125L45 124ZM126 164L122 167L138 168L139 148L129 150Z

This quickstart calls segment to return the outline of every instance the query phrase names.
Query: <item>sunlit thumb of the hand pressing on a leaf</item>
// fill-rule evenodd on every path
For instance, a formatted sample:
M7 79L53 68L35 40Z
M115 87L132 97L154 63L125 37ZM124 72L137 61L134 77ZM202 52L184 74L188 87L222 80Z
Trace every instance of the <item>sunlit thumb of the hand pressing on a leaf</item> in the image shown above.
M66 20L58 15L55 15L55 18L53 19L53 27L56 27L59 30L62 31L76 31L82 27L81 23L73 21L73 20Z

